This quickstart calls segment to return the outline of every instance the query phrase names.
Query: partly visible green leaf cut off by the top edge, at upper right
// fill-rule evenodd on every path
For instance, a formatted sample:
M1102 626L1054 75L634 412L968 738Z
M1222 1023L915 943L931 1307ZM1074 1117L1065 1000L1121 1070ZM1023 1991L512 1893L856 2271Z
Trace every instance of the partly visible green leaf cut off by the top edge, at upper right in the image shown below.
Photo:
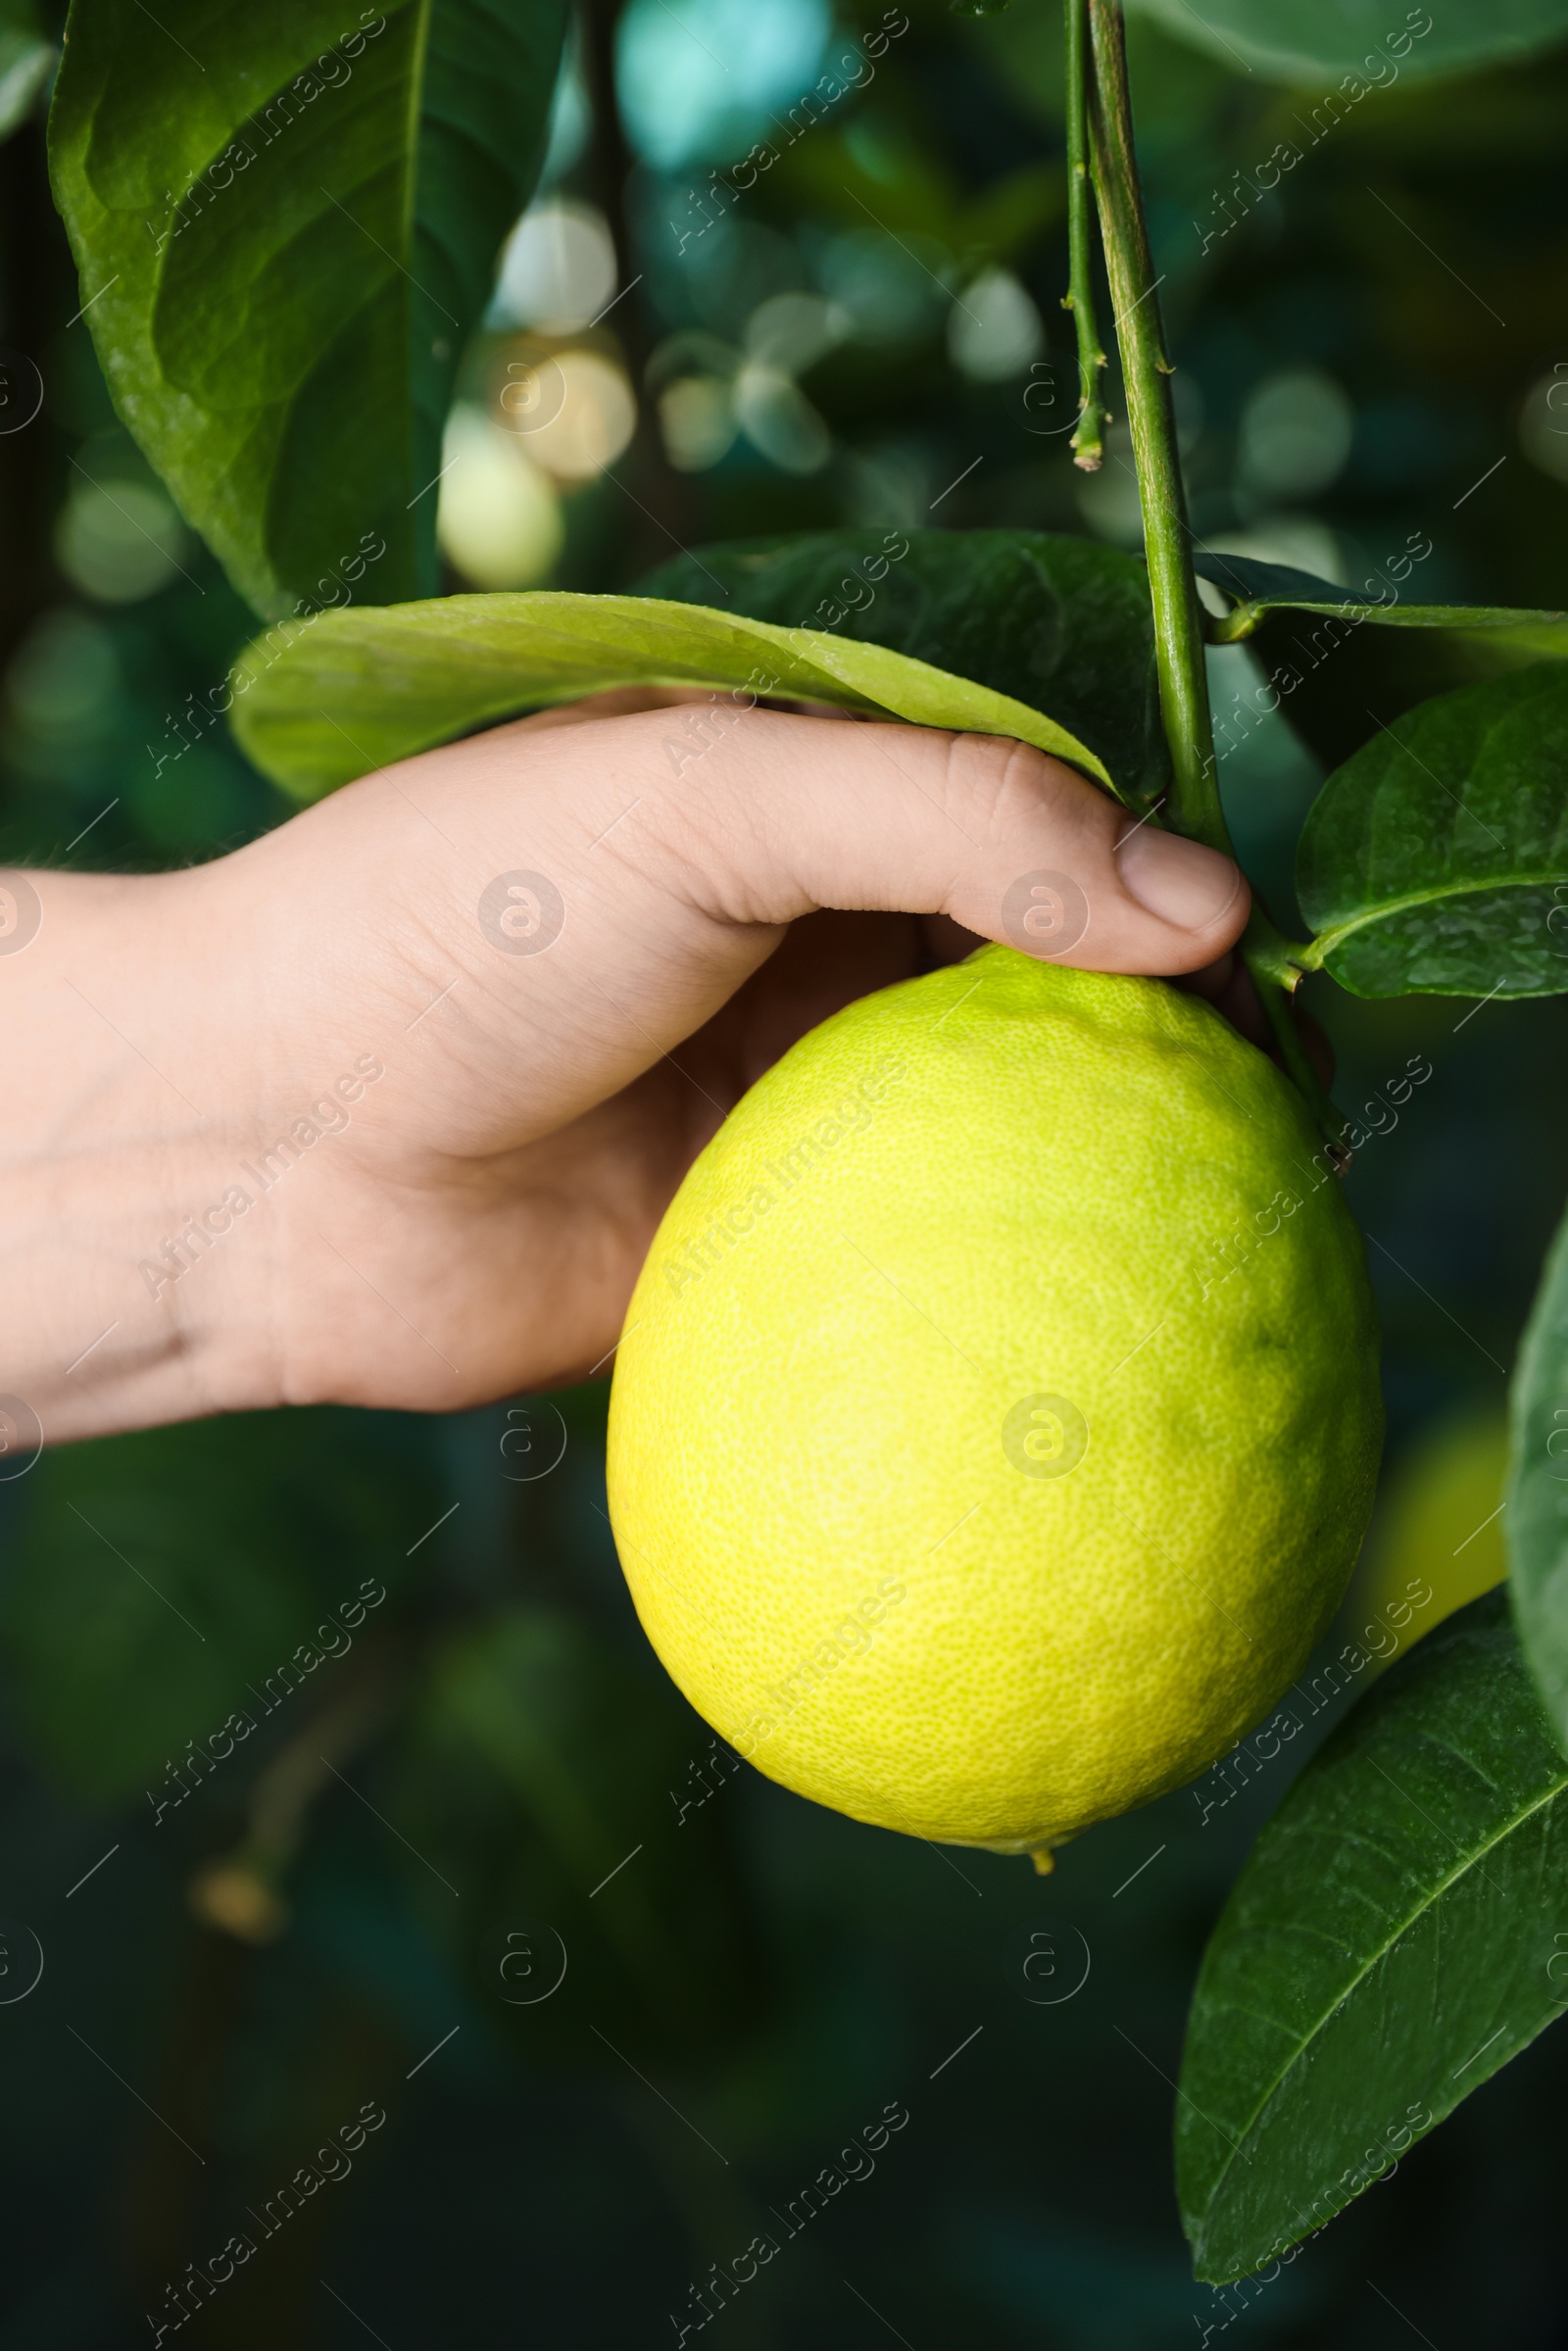
M1568 38L1568 0L1443 0L1408 9L1385 0L1135 0L1145 16L1244 73L1326 85L1356 75L1361 94L1396 75L1460 73L1530 56ZM1375 73L1363 73L1375 66ZM1345 92L1352 99L1349 92ZM1352 99L1354 103L1354 99Z

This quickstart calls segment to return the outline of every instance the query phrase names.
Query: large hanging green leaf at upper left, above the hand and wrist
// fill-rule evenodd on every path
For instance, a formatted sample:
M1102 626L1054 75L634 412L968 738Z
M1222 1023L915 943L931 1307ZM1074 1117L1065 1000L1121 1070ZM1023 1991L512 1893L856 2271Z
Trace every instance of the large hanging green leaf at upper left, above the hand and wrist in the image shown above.
M355 562L353 595L435 588L418 491L538 172L564 0L346 14L75 0L49 122L115 404L261 614L339 600Z

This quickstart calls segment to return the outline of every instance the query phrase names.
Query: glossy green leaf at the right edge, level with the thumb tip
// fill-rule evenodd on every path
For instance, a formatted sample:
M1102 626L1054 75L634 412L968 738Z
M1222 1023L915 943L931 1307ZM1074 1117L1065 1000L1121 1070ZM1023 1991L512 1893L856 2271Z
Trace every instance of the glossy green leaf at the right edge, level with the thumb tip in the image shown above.
M1566 884L1568 670L1533 663L1418 703L1335 769L1295 858L1302 962L1356 997L1561 994Z

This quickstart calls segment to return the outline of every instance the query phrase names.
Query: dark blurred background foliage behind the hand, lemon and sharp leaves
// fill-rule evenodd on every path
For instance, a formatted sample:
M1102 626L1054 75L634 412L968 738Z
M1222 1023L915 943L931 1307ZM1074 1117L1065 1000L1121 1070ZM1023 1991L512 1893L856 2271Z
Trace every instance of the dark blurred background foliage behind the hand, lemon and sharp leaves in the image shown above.
M1133 21L1133 94L1197 529L1340 581L1418 534L1425 597L1554 604L1568 52L1403 78L1312 136L1314 92L1182 45L1175 14ZM905 16L802 127L825 61ZM207 705L252 621L80 322L42 165L59 24L5 24L0 858L207 858L287 813ZM1281 139L1302 160L1265 190ZM736 195L759 141L778 160ZM463 364L449 585L625 588L712 538L835 524L1135 548L1124 428L1100 475L1067 456L1060 148L1034 0L592 0ZM1218 651L1213 679L1232 823L1286 905L1326 762L1441 679L1366 630L1260 719L1272 625L1286 654ZM1382 1128L1349 1187L1389 1469L1340 1648L1410 1582L1434 1599L1406 1639L1502 1575L1566 1011L1316 985L1340 1100L1380 1100ZM1413 1056L1432 1077L1394 1110L1378 1089ZM442 1425L277 1413L0 1483L0 2351L181 2323L214 2346L670 2342L759 2231L778 2257L712 2320L736 2351L1568 2344L1559 2036L1272 2283L1190 2283L1182 2010L1288 1751L1093 1831L1048 1886L785 1796L654 1662L602 1429L602 1387ZM1034 1928L1063 1991L1074 1935L1091 1954L1072 1996L1030 1996ZM386 2123L334 2156L364 2102ZM910 2121L882 2177L804 2224L802 2186L858 2170L889 2102ZM256 2252L197 2285L235 2231Z

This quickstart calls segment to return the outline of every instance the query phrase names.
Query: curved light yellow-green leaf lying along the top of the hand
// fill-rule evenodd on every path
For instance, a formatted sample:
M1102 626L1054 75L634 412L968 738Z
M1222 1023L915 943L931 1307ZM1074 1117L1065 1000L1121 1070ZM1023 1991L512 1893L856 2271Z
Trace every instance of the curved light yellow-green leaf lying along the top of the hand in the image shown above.
M1112 781L1056 719L966 677L879 644L635 595L451 595L282 623L240 656L233 729L266 776L315 799L520 710L644 684L745 689L1018 736Z

